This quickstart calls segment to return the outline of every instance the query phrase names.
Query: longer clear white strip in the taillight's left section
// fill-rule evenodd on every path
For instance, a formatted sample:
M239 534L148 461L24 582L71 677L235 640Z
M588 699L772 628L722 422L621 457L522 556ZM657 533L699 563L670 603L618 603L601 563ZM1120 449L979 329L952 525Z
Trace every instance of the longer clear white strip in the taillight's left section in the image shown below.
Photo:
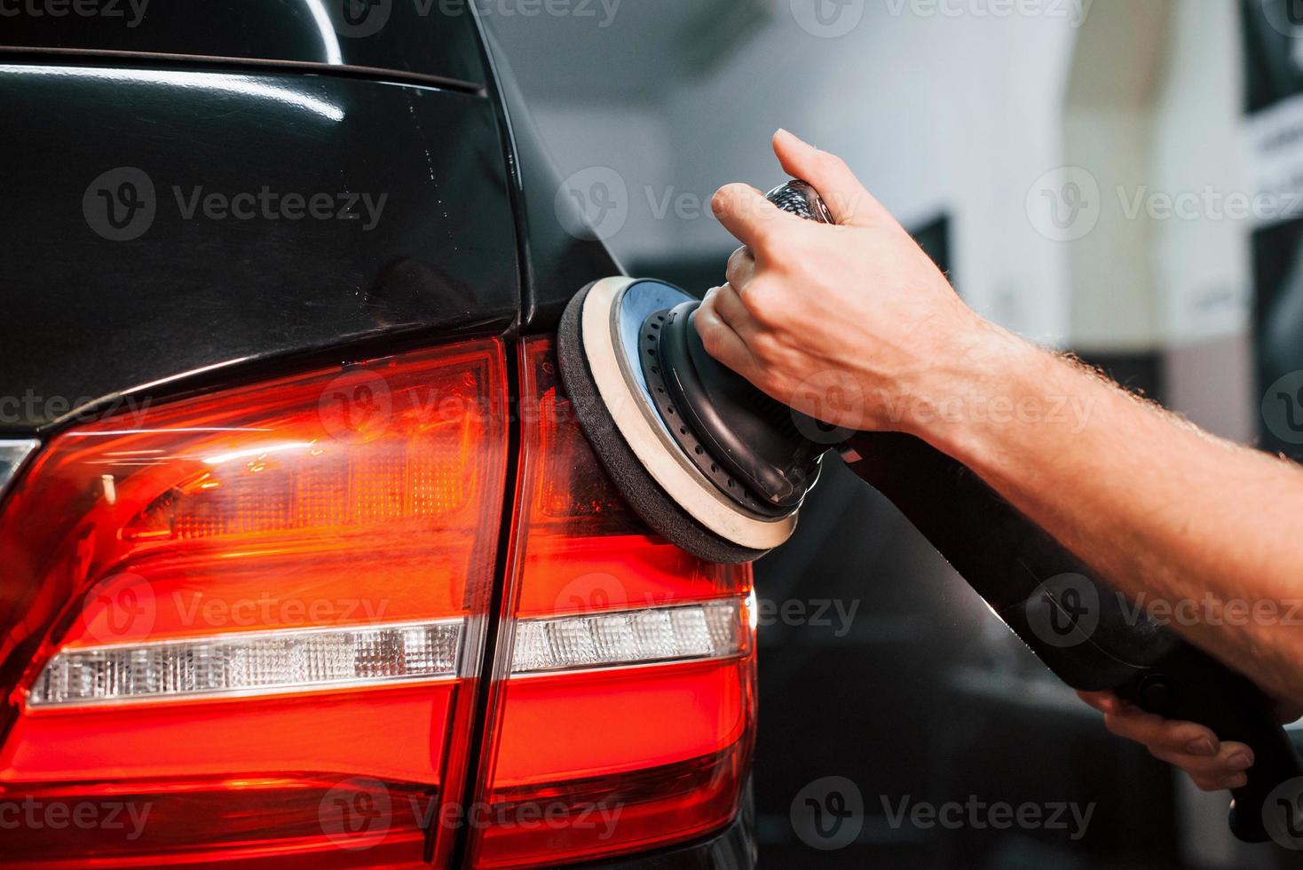
M457 676L465 620L241 632L57 652L31 707L242 697Z

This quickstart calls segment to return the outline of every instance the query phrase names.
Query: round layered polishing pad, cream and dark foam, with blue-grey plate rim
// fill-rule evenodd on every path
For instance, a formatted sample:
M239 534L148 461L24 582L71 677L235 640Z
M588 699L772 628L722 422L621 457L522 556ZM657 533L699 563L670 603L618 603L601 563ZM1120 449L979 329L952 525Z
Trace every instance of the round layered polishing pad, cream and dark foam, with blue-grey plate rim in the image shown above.
M751 561L791 537L796 512L745 511L681 456L632 356L648 314L691 298L661 281L610 277L589 285L558 328L562 379L603 468L648 525L702 559Z

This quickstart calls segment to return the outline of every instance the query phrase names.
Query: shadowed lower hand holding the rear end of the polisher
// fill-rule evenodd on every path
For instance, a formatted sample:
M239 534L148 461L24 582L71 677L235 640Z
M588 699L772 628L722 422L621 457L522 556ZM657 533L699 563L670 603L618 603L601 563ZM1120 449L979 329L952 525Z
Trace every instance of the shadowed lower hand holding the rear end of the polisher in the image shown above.
M1190 774L1205 792L1240 788L1253 766L1253 750L1244 744L1221 742L1217 735L1192 722L1173 722L1122 701L1111 692L1078 692L1081 701L1104 714L1104 725L1119 737L1144 744L1149 754ZM1278 707L1281 722L1294 722L1298 707Z

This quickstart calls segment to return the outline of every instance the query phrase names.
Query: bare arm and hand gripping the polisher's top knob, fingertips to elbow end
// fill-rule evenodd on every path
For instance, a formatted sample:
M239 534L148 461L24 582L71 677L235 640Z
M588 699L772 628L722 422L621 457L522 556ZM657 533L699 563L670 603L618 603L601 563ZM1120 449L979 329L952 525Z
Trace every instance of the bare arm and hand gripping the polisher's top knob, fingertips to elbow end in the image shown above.
M722 188L711 206L747 247L697 309L706 350L823 422L924 438L1153 616L1303 701L1303 470L986 323L842 160L786 133L774 151L837 225Z

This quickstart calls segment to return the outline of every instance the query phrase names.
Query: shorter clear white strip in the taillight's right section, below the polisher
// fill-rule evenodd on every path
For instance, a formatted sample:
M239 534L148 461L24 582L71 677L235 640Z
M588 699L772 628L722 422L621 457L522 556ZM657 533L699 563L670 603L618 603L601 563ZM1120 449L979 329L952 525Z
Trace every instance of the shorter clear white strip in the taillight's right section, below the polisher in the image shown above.
M511 673L722 659L751 642L748 600L606 611L516 621Z

